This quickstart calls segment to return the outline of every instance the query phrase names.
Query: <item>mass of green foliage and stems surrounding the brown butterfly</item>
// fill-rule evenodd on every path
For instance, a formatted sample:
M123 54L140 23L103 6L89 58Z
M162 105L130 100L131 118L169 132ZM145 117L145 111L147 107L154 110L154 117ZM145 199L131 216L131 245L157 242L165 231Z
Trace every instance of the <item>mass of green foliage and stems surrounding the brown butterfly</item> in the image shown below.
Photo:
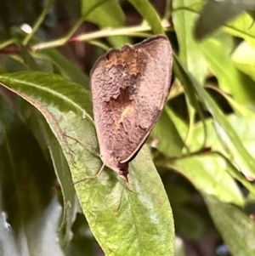
M210 256L220 244L229 255L255 254L252 1L2 4L1 255L98 255L101 247L180 256L192 245ZM72 25L61 23L63 10ZM174 79L130 163L130 188L109 168L76 183L102 165L89 70L105 48L152 33L173 45Z

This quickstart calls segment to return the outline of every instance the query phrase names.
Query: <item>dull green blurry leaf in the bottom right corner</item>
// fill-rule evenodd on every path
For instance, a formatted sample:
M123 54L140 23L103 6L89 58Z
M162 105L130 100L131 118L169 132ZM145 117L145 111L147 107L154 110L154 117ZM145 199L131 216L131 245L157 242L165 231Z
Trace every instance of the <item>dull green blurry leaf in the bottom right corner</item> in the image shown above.
M255 254L255 223L233 205L218 201L213 196L204 196L218 232L232 255Z

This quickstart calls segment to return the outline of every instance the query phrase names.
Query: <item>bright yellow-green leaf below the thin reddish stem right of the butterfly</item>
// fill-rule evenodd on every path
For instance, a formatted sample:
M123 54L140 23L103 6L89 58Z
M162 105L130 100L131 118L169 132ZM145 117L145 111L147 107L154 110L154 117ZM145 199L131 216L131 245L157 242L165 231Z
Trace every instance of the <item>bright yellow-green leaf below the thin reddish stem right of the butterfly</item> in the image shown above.
M243 205L241 191L226 173L228 165L222 157L213 154L190 156L168 166L183 174L201 193L216 196L223 202Z

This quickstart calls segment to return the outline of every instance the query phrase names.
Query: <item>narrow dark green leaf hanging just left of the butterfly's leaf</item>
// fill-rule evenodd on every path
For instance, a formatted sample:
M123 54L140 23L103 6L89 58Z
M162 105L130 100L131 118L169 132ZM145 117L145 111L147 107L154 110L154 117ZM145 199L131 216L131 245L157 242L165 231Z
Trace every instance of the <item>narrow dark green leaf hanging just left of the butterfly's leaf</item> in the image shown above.
M63 199L61 198L61 202L63 201L63 214L58 235L59 245L65 251L71 241L71 227L77 214L77 194L71 185L71 172L63 151L42 114L25 100L19 100L18 102L17 109L19 109L20 114L26 120L32 134L37 139L48 165L51 166L53 163L54 171L59 181L63 197Z

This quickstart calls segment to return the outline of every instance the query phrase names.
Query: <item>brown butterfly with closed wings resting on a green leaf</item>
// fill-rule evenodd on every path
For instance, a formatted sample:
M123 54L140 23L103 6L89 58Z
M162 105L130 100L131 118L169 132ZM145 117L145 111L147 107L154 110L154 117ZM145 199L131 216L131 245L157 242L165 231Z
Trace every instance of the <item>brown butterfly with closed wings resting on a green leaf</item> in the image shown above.
M126 181L128 162L139 152L167 100L173 51L167 37L111 49L90 74L100 157ZM98 175L97 175L98 176Z

